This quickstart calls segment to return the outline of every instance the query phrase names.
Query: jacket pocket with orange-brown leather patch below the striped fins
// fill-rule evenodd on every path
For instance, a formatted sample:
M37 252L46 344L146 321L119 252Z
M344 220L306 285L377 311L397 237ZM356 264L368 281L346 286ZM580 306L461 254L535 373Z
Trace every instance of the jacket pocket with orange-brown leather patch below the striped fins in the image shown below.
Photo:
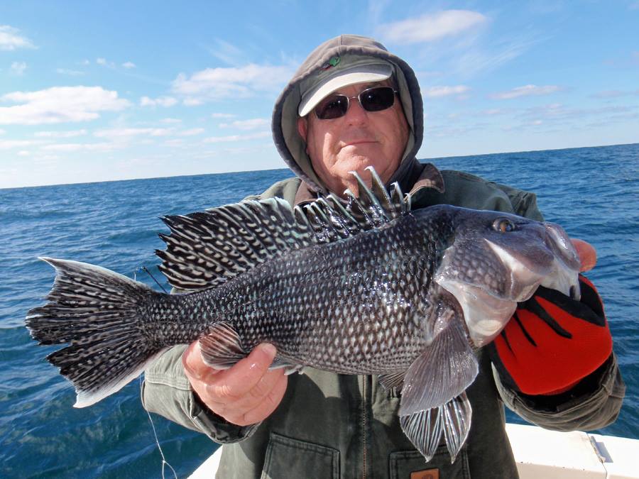
M469 479L466 450L462 449L454 463L445 445L439 446L435 456L426 462L419 451L398 451L388 457L391 479Z

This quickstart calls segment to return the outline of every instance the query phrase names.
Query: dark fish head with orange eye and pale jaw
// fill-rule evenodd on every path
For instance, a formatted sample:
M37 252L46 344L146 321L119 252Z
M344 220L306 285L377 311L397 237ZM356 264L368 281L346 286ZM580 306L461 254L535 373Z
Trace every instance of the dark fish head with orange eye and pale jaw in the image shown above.
M579 256L560 226L460 208L449 221L433 280L461 305L476 346L492 341L540 285L578 299Z

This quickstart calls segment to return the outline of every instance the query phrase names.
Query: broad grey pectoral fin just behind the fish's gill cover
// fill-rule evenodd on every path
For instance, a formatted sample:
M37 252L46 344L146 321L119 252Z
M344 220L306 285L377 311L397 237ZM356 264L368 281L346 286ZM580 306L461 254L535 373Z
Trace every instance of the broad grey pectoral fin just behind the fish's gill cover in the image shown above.
M464 329L459 321L451 321L408 368L400 416L446 404L471 385L478 371Z

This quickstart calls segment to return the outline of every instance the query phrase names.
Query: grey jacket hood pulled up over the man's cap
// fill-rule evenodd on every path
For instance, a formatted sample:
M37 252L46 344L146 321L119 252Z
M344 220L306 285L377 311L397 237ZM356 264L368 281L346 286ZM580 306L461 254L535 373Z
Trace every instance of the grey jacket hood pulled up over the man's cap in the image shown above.
M393 75L397 82L400 101L404 114L410 126L410 135L406 145L402 163L389 180L402 183L405 176L415 169L415 155L422 145L424 131L424 107L420 85L415 72L400 57L389 53L388 50L372 38L359 35L339 35L322 43L312 51L305 62L295 72L283 92L275 101L271 128L273 141L280 156L295 175L315 192L326 192L322 180L315 174L310 158L306 153L306 143L297 133L297 107L302 99L300 84L312 75L327 70L327 68L348 67L356 58L369 56L389 62L393 67ZM336 61L337 60L337 61Z

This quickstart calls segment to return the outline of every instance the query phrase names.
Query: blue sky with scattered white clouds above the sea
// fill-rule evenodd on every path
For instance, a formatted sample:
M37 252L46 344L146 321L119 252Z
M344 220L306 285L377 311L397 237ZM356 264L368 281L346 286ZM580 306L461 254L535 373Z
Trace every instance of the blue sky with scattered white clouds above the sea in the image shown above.
M0 188L285 167L275 99L342 33L415 70L418 158L639 142L639 0L3 1Z

